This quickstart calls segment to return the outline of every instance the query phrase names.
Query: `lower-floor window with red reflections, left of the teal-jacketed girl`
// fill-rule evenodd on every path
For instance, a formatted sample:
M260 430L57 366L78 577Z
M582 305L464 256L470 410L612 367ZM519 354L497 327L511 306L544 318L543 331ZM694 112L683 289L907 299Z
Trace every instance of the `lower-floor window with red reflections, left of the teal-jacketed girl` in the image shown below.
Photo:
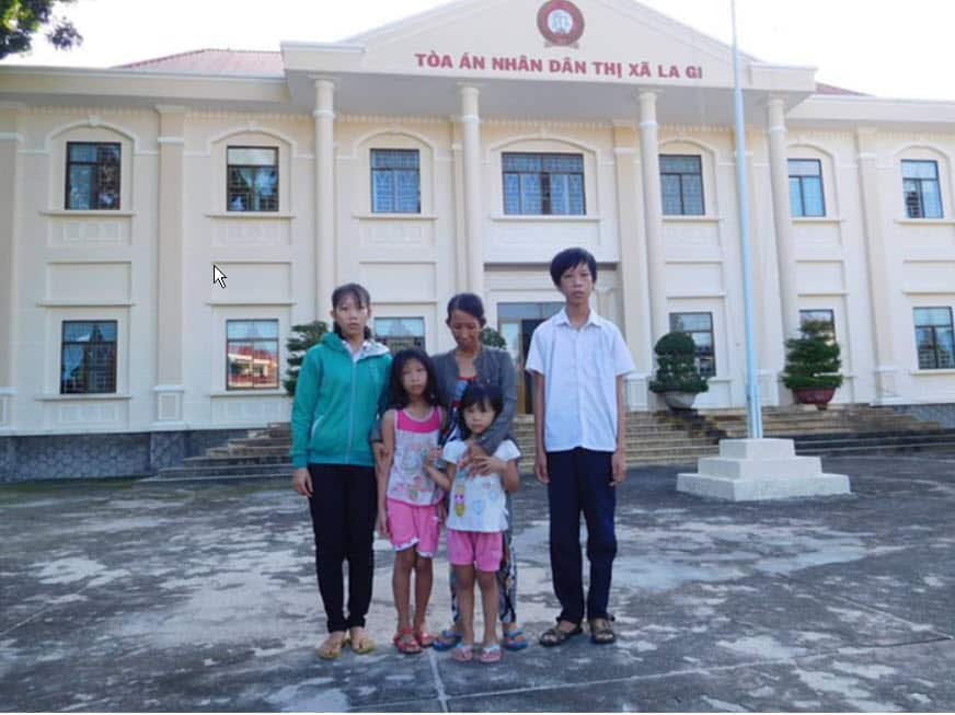
M278 321L226 321L226 389L278 388Z

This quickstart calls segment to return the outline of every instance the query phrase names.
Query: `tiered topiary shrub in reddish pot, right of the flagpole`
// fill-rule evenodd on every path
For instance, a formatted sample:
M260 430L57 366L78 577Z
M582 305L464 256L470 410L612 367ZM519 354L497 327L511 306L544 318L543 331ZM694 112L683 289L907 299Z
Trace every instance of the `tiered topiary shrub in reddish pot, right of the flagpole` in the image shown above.
M832 325L826 321L806 321L802 331L801 337L786 341L783 384L793 391L797 402L826 410L842 385L839 344L832 338Z

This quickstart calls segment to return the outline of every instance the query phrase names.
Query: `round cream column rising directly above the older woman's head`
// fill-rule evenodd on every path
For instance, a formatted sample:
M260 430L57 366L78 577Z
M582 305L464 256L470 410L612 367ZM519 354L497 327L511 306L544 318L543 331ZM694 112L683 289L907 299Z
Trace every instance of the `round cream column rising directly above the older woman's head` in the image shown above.
M461 139L464 163L464 253L468 290L484 293L484 239L481 234L481 115L478 88L461 88Z

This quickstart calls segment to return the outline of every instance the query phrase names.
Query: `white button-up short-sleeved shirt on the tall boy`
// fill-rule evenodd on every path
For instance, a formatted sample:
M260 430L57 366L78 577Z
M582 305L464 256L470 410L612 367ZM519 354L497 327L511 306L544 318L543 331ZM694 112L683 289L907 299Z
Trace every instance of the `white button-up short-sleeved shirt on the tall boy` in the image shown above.
M592 310L575 328L566 310L533 333L527 370L544 377L544 449L617 449L617 378L633 372L620 328Z

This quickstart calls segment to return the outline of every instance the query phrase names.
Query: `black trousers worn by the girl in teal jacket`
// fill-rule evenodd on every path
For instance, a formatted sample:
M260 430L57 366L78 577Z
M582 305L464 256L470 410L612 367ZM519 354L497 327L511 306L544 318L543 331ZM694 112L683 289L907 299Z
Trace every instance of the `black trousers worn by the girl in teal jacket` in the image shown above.
M375 577L378 485L370 466L309 464L315 573L329 633L365 625ZM344 615L343 562L348 562L348 618Z

